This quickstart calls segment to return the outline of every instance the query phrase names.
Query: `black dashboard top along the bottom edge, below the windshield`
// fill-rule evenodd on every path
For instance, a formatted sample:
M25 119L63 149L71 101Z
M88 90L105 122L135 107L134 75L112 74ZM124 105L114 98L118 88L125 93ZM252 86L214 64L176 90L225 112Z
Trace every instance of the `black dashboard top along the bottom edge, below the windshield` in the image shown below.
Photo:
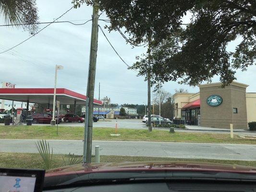
M81 186L44 192L255 192L255 183L168 181Z

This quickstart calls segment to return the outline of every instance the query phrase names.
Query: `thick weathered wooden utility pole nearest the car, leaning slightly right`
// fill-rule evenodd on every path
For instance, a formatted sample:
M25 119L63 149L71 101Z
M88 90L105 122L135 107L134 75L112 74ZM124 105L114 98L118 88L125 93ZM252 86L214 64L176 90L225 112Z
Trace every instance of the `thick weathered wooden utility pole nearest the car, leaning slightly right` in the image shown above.
M88 103L88 126L87 126L87 138L84 142L86 145L86 163L91 163L92 160L92 123L93 123L93 98L95 88L95 73L96 73L96 59L98 49L98 2L93 2L93 15L92 15L92 33L91 33L91 48L90 48L90 60L88 70L87 92L86 96L89 97Z

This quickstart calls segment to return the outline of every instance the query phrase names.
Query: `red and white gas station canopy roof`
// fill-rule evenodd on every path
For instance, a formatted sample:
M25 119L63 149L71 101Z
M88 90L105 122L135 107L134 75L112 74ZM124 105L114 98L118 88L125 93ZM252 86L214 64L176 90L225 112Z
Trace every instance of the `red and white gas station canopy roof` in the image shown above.
M53 93L54 88L0 88L0 99L52 104ZM65 88L56 88L56 100L60 104L85 105L86 96ZM93 103L102 105L97 99L93 99Z

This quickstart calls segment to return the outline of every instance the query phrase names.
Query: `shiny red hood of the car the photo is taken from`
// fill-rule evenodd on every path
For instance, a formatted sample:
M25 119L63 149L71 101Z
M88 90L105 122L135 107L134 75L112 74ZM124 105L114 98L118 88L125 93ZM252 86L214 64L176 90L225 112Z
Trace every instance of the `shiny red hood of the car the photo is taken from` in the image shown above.
M91 163L67 166L62 168L50 169L45 177L68 175L77 173L93 172L116 172L116 171L133 171L133 170L163 170L163 171L218 171L234 173L256 174L256 168L216 164L201 162L123 162L123 163Z

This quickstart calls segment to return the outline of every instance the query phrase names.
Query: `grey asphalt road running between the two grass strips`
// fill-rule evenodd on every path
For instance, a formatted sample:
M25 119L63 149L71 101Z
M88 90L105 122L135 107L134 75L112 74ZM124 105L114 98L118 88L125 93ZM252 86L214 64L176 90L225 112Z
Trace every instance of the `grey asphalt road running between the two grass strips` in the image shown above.
M48 140L54 154L83 154L83 141ZM36 140L0 139L0 152L37 153ZM101 155L255 160L256 145L135 141L93 141Z

